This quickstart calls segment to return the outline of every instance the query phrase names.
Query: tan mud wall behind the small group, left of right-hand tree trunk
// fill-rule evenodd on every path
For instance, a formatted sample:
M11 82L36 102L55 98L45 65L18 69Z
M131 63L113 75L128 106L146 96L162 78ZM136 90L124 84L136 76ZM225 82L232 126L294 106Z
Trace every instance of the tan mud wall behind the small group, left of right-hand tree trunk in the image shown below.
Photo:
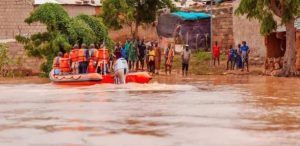
M236 9L240 0L233 2ZM251 56L265 57L266 47L264 37L260 34L260 24L257 20L248 20L245 16L233 16L233 37L235 45L246 41L251 49Z

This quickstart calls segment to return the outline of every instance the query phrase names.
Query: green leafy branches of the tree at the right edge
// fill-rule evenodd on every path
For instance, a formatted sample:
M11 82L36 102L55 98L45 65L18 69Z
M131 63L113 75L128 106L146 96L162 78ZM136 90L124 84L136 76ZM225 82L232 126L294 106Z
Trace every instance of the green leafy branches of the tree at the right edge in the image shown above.
M277 26L298 17L299 10L300 0L241 0L235 14L258 19L261 22L261 34L267 35L276 30ZM274 15L281 18L279 24Z

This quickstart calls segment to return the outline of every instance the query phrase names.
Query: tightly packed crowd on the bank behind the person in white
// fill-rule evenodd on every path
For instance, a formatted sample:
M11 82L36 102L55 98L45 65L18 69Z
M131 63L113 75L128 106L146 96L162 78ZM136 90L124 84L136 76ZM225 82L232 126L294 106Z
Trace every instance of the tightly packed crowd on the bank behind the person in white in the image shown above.
M114 56L125 58L130 71L147 70L152 74L159 74L163 54L165 72L171 74L175 56L175 50L171 44L166 49L162 49L158 46L157 41L145 42L144 39L139 38L127 39L125 43L117 43Z

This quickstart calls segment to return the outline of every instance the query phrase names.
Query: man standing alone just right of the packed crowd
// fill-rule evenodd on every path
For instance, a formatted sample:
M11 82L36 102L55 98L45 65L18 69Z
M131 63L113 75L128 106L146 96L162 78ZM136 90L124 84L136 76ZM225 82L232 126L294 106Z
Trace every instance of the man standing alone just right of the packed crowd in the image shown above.
M182 51L181 59L182 59L182 76L188 75L189 70L189 62L191 58L192 51L189 49L188 45L185 45L185 49Z

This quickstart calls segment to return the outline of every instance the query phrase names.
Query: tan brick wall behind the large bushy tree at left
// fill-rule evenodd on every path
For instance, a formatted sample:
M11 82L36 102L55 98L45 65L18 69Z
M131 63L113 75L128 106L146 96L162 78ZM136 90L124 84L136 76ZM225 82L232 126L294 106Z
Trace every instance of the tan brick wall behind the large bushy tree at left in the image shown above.
M28 25L24 22L36 7L32 5L32 0L0 0L0 42L14 39L18 34L31 35L45 31L46 27L40 23ZM95 7L92 6L64 5L64 8L71 16L96 13ZM9 55L15 61L21 58L25 68L33 72L39 71L41 61L28 57L23 45L11 41L6 45L9 47Z

